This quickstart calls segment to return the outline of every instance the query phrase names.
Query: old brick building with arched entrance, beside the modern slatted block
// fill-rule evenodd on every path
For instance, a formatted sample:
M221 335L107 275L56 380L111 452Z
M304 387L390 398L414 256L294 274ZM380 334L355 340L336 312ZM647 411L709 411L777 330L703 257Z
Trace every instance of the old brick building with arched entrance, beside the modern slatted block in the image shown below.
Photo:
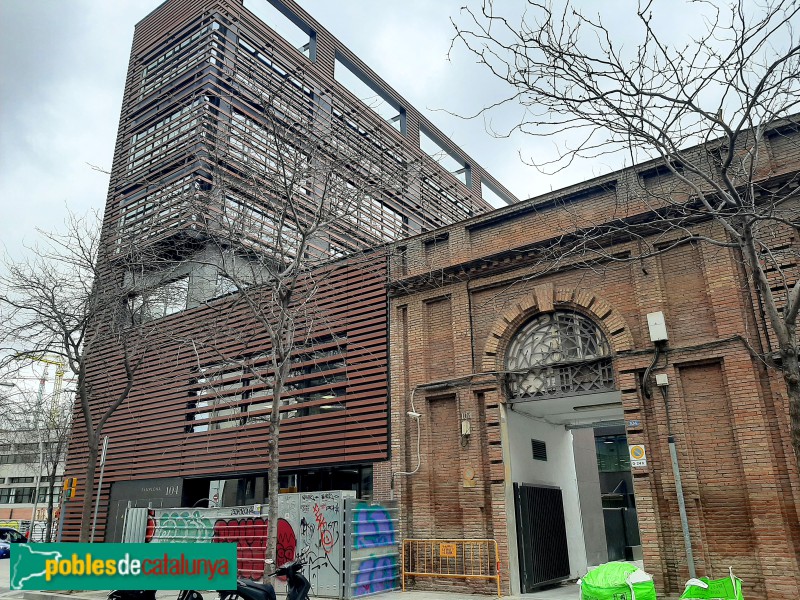
M757 185L780 190L795 223L797 142L796 126L768 131ZM776 347L741 257L690 235L720 226L617 235L591 260L541 250L579 244L560 238L576 223L648 224L654 186L680 197L675 185L646 163L395 247L392 466L406 537L496 539L512 592L641 553L659 594L677 597L689 570L674 436L697 574L732 566L746 597L797 597L786 388L751 355ZM771 233L791 286L798 231ZM630 260L648 244L661 251ZM654 342L659 314L667 339Z

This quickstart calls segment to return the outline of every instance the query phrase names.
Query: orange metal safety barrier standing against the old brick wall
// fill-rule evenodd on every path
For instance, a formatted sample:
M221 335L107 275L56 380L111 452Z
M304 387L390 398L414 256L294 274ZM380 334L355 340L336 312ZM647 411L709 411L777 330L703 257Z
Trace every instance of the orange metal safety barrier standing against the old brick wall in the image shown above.
M500 594L500 560L494 540L403 540L403 591L406 577L449 577L497 581Z

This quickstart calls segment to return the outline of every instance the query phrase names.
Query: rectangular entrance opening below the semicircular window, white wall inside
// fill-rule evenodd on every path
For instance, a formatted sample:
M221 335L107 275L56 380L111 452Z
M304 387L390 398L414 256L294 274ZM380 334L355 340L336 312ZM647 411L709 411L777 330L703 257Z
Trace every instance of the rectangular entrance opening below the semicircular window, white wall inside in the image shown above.
M507 410L515 499L509 535L517 540L520 591L581 577L605 562L641 559L620 393L514 400ZM553 492L547 502L528 503L528 513L521 512L520 490L534 488ZM527 493L534 497L545 495ZM531 518L560 520L563 533L548 528L545 540L545 530L532 527ZM566 560L559 558L556 566L552 549L562 547Z

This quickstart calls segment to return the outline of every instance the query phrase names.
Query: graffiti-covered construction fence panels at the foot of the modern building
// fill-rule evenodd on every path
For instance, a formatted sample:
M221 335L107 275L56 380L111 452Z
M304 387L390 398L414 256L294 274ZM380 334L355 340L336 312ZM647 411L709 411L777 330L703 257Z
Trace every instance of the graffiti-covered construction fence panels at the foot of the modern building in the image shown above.
M129 508L123 541L235 542L239 576L260 578L268 511L267 504ZM399 589L396 503L365 502L350 491L281 494L278 514L278 564L305 550L313 595L356 598Z

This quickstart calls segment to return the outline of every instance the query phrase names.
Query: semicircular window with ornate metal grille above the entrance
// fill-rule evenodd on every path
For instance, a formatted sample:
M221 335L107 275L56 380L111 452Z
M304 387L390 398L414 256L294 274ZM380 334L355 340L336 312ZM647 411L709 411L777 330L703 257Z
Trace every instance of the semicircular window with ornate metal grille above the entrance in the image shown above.
M511 398L570 396L614 389L611 349L590 319L574 312L536 316L506 351Z

